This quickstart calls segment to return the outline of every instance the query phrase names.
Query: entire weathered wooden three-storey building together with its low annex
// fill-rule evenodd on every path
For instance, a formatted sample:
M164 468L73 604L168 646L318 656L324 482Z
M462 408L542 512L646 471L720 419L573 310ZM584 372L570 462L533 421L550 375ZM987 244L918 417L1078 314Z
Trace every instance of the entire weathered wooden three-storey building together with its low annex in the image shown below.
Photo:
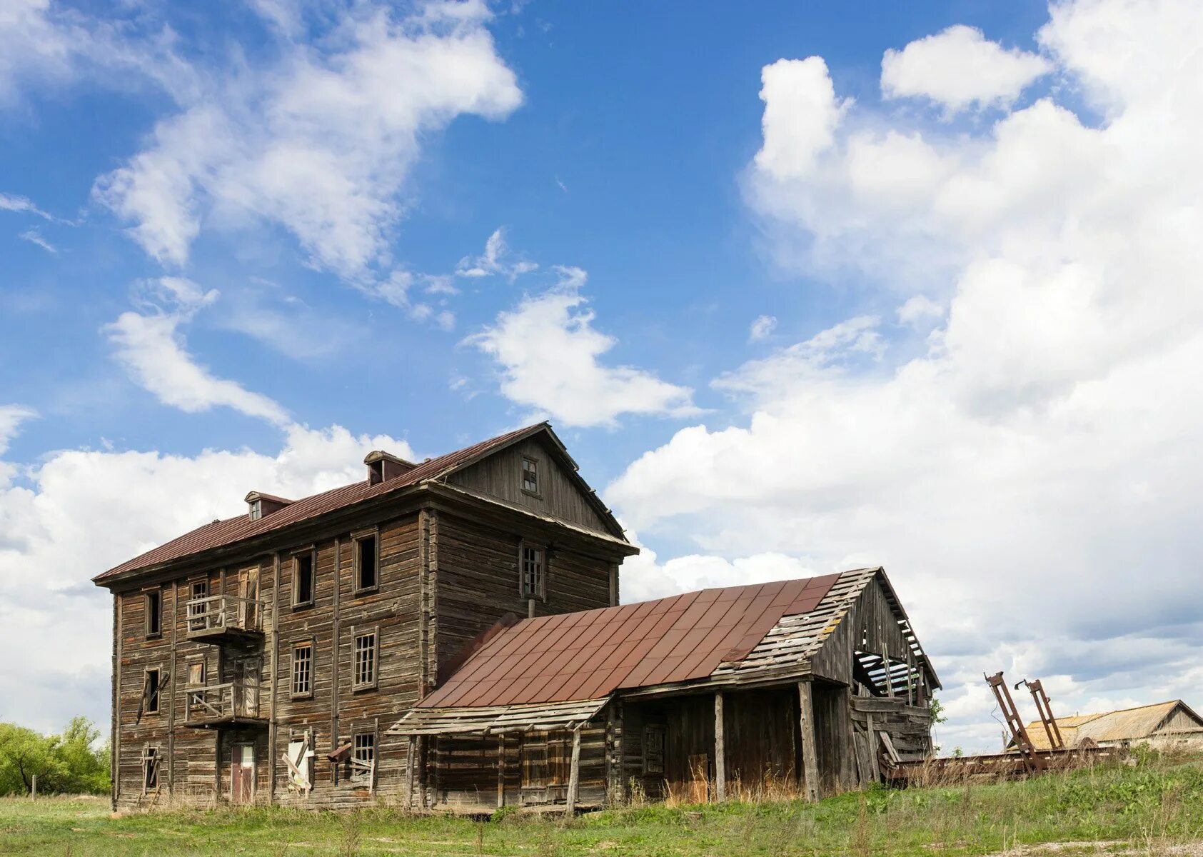
M365 463L95 578L115 809L816 796L930 751L882 569L620 607L638 550L547 424Z

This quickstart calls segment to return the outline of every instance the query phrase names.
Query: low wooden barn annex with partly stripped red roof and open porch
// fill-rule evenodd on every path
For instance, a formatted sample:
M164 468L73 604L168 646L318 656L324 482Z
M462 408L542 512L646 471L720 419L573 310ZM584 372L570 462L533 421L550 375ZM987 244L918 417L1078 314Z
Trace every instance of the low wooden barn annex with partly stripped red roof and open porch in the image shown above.
M885 573L498 622L389 729L408 802L816 798L931 752L940 680Z

